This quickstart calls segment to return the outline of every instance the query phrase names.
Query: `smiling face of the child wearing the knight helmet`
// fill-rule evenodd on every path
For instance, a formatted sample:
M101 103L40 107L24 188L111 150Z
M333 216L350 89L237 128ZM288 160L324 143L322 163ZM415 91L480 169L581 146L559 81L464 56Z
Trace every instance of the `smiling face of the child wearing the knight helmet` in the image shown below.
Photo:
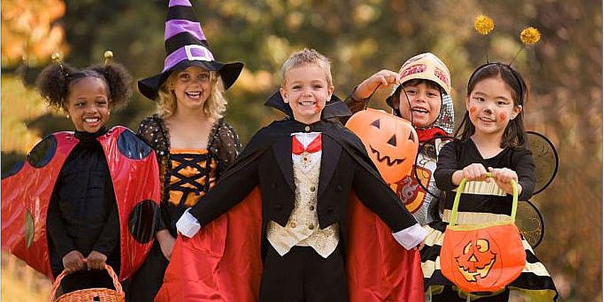
M416 127L430 126L441 113L441 91L425 80L410 80L403 84L405 95L399 96L401 117L413 122ZM407 102L409 99L409 102ZM411 107L409 107L411 105Z

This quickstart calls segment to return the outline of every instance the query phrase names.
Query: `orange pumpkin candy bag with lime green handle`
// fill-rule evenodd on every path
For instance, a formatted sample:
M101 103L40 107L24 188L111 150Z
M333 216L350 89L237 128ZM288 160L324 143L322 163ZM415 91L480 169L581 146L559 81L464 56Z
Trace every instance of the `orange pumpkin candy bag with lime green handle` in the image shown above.
M441 247L441 272L466 293L497 292L520 276L527 257L514 224L518 206L516 183L512 180L511 220L455 225L465 183L463 179L459 184L451 220L445 231Z

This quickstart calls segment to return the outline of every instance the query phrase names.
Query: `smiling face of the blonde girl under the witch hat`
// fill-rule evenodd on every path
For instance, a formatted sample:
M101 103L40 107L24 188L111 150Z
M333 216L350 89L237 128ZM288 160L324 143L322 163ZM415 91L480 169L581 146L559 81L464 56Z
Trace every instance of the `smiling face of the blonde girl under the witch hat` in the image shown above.
M203 104L212 92L210 72L191 66L176 73L172 91L176 96L176 110L203 109Z

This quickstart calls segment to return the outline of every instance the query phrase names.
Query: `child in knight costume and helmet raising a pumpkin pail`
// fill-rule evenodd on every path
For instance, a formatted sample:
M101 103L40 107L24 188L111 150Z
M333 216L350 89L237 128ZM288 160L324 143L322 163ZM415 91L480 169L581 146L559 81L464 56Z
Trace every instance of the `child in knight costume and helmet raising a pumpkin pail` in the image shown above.
M399 72L380 70L360 83L348 96L345 103L355 113L367 107L374 92L390 89L386 102L394 114L411 121L419 139L419 144L437 145L439 136L453 133L453 102L451 100L451 75L445 63L432 53L420 53L409 58ZM422 148L420 151L435 150L436 153L420 153L429 158L427 163L436 163L438 150ZM417 168L417 167L416 167ZM424 188L417 183L415 176L406 176L394 183L394 190L407 205L407 209L421 225L440 220L438 203L433 202L438 190L433 187L436 164L421 167L424 173Z

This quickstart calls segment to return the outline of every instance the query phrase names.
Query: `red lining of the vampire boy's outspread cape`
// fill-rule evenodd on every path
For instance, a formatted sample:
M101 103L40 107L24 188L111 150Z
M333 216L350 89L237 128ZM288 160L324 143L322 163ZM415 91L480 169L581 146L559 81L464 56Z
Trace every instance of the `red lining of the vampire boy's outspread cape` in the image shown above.
M281 134L289 135L287 129L279 131L280 124L286 123L276 122L269 126L271 131L265 131L271 136L265 143L270 142L272 136L283 139ZM329 132L325 129L323 134L329 135ZM254 160L270 143L260 145L257 149L248 146L246 149L260 151L244 151L237 161ZM365 150L360 144L352 146L346 142L343 147L352 156ZM369 167L369 158L367 161L364 164ZM367 169L379 177L375 168ZM230 169L222 177L235 173L234 170ZM424 301L419 251L401 247L389 227L362 205L355 194L351 195L349 210L345 263L350 301ZM204 225L195 237L178 236L155 301L258 301L262 274L261 228L261 195L256 188L225 214Z

